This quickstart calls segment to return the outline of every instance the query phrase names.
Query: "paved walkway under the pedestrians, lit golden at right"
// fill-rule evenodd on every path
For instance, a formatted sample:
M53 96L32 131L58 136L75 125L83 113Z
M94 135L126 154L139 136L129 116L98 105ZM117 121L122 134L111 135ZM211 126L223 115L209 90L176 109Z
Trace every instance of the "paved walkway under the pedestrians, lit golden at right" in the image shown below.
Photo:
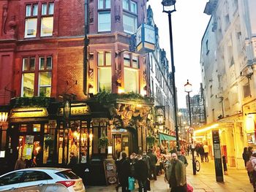
M197 158L198 159L198 158ZM187 183L192 185L194 192L252 192L252 185L249 183L249 178L244 170L237 170L232 167L227 167L227 174L224 175L224 182L216 181L214 160L209 159L209 162L200 163L200 172L193 175L192 172L192 157L187 157L189 166L187 166ZM109 186L88 186L86 192L115 192L116 185ZM135 192L138 191L138 184L135 184ZM151 180L152 192L170 192L169 185L165 183L164 174L157 177L157 180ZM121 192L121 188L119 191Z

